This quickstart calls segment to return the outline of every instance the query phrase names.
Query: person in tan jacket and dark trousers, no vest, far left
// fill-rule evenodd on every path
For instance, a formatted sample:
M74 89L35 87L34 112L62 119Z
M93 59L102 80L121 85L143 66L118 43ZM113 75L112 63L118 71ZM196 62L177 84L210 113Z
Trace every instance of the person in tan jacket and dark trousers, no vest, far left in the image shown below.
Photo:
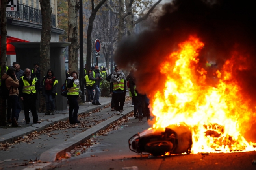
M7 90L10 90L9 97L7 98L7 103L12 109L11 120L13 127L18 127L18 118L20 114L20 103L19 103L19 80L15 75L15 69L9 68L7 73L2 76L2 80L5 80Z

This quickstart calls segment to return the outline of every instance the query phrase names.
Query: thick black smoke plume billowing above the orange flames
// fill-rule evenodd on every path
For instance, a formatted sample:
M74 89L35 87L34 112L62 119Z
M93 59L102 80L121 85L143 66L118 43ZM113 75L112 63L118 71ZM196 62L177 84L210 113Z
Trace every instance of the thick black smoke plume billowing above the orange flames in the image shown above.
M247 69L232 69L243 93L256 106L256 13L253 1L173 0L162 7L155 27L119 43L115 62L122 68L137 68L137 88L141 93L164 86L165 75L159 67L164 58L177 49L177 44L196 35L204 44L200 52L202 67L213 61L221 71L224 62L237 51L246 57ZM238 55L239 57L239 55ZM240 64L237 58L237 65ZM235 64L235 65L236 65ZM234 66L235 67L235 66ZM169 70L166 70L168 74ZM210 71L208 73L209 75ZM254 108L255 111L255 108ZM255 117L254 117L255 119ZM252 120L252 124L255 120ZM250 132L251 133L251 132ZM256 136L256 131L252 132Z

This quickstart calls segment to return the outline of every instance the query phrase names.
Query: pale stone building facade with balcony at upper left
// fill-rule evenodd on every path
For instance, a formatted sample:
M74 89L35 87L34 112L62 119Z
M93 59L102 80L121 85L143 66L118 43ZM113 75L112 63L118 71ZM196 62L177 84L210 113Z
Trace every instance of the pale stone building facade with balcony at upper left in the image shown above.
M30 42L40 42L42 15L39 0L18 0L18 11L7 11L7 36ZM64 30L58 28L57 0L50 0L52 6L51 42L58 42ZM16 61L16 55L7 55L7 65Z

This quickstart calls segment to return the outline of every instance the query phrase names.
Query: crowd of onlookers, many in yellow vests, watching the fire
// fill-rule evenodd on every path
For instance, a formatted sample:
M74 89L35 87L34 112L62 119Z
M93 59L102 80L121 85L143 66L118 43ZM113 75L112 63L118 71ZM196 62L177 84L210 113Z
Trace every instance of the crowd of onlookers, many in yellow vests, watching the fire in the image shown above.
M35 62L33 65L34 68L32 70L26 68L23 71L20 69L18 62L13 62L13 66L7 67L7 72L2 76L7 91L9 91L7 97L7 122L11 123L14 127L18 127L17 121L21 111L19 100L23 102L26 124L30 123L30 112L32 113L33 123L40 123L36 110L38 93L45 97L45 115L54 115L55 112L54 99L57 95L58 80L54 76L52 69L48 69L46 75L41 79L39 63ZM143 117L150 119L149 100L146 95L141 95L136 90L136 79L134 77L136 69L131 69L130 74L126 77L119 66L115 66L115 70L110 75L106 71L107 68L99 68L97 65L90 69L88 73L85 68L84 84L87 90L88 104L101 105L99 101L100 85L103 78L106 77L106 80L110 82L112 111L115 110L117 115L123 114L128 87L129 95L132 97L132 106L134 106L134 117L139 118L139 122L142 122ZM65 82L67 86L67 101L69 103L69 122L70 124L80 123L78 121L79 105L77 99L82 91L80 91L79 87L78 73L72 71L67 75L66 72Z

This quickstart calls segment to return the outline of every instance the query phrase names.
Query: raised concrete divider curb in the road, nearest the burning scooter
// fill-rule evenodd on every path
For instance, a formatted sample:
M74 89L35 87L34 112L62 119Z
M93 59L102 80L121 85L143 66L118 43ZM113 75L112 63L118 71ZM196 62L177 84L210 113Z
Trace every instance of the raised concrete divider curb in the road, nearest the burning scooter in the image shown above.
M91 136L100 130L105 129L110 124L118 121L119 119L122 119L125 115L131 113L134 111L134 108L128 108L124 110L124 115L120 116L113 116L109 119L107 119L104 122L101 122L100 124L97 124L96 126L70 138L69 140L54 146L50 150L47 150L43 152L40 156L40 160L43 162L54 162L57 158L61 157L61 155L64 155L66 152L69 152L70 150L74 149L78 144L85 142L87 139L90 139Z

